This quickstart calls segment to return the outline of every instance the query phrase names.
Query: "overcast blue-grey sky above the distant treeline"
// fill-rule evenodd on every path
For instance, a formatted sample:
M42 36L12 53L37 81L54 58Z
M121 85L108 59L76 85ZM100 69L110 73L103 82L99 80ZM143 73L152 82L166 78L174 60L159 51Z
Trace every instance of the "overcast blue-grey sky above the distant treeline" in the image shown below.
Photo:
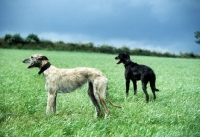
M200 54L200 0L1 0L0 37Z

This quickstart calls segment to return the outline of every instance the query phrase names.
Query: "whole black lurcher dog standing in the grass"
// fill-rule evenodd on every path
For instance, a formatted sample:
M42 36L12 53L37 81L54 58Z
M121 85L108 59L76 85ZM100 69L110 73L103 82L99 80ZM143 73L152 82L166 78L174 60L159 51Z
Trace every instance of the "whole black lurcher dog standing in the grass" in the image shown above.
M137 92L137 81L141 80L142 89L144 94L146 95L146 102L149 102L149 94L147 93L147 83L150 82L150 87L154 96L154 100L156 99L155 91L159 91L156 89L156 75L154 71L145 65L139 65L133 61L131 61L130 56L128 54L119 54L115 57L116 60L119 60L116 64L123 63L125 67L125 79L126 79L126 96L128 96L129 92L129 84L130 80L134 86L134 94Z

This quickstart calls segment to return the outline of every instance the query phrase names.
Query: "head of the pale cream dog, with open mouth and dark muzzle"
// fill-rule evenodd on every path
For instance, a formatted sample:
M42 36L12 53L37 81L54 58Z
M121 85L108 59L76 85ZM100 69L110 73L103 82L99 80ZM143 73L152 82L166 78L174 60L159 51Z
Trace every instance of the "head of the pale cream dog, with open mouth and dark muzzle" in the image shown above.
M43 56L42 54L34 54L30 58L27 58L22 62L31 63L27 68L34 68L34 67L40 68L43 65L42 64L43 61L48 61L48 58L46 56Z

